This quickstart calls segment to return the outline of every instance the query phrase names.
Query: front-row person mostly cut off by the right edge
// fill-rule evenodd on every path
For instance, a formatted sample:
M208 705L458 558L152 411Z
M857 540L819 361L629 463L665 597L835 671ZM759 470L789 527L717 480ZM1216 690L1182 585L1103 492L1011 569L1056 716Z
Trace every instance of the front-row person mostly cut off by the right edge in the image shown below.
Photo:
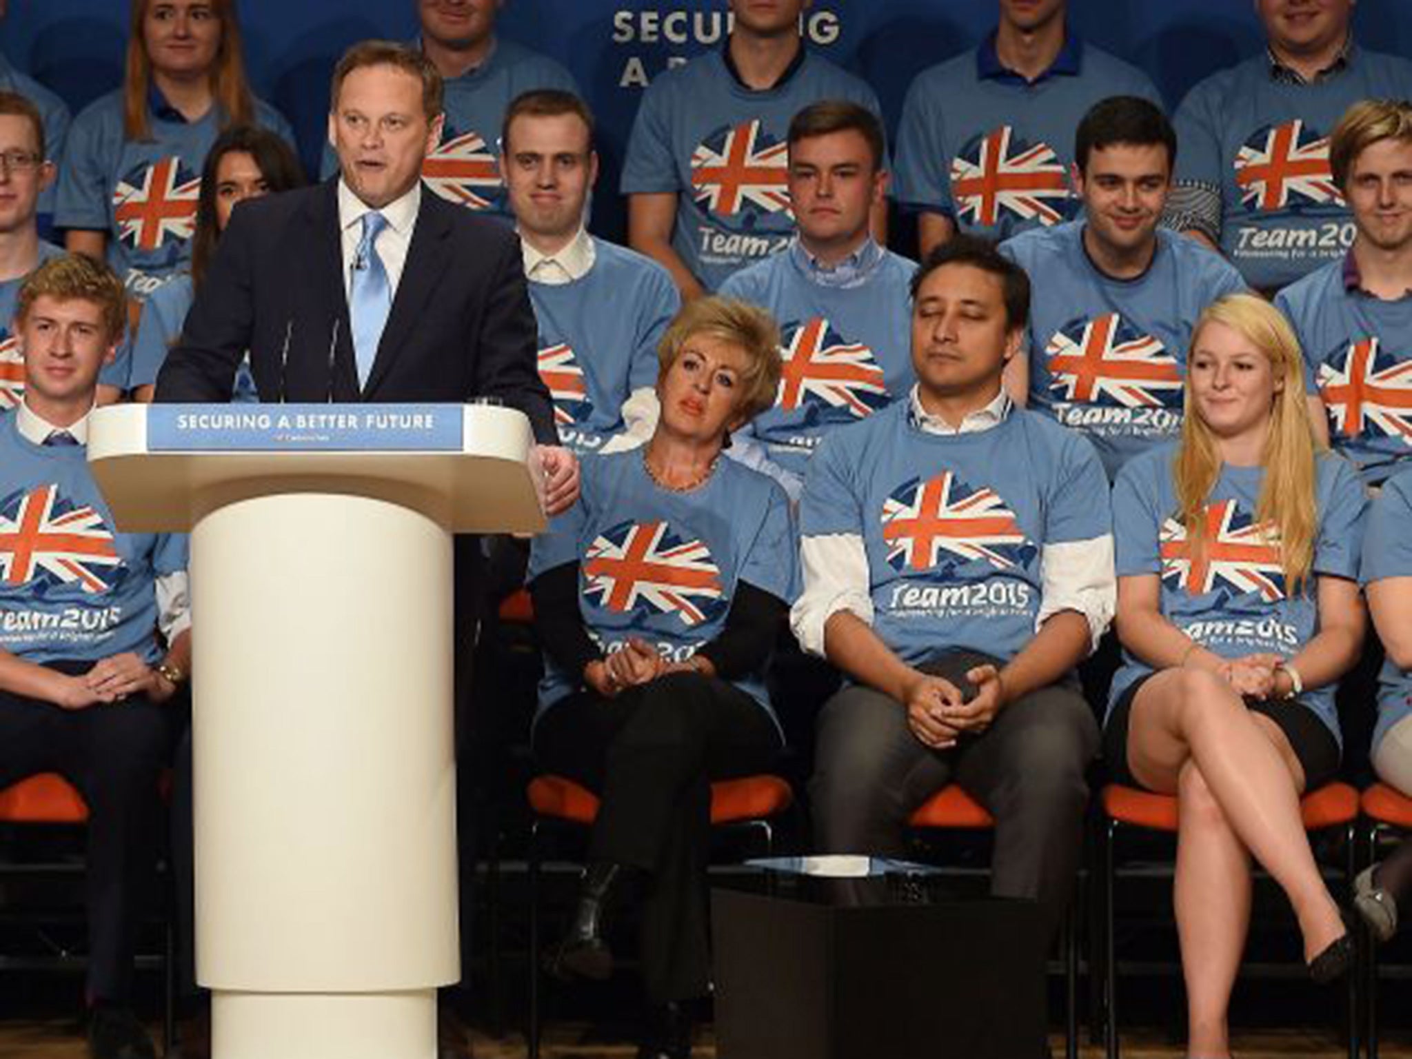
M1412 798L1412 470L1388 479L1368 513L1363 582L1387 658L1378 675L1372 768ZM1358 912L1380 940L1412 915L1412 843L1358 875ZM1399 916L1401 914L1401 916Z

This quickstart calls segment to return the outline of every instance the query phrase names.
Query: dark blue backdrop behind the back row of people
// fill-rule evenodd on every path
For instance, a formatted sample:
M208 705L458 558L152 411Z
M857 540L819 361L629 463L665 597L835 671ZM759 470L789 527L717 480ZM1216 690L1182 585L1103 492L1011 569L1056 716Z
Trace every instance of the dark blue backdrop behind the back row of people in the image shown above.
M1148 71L1175 106L1206 73L1261 47L1250 0L1072 0L1086 38ZM1363 0L1358 40L1412 56L1406 0ZM602 126L594 227L617 236L623 148L642 85L668 62L717 44L726 1L507 0L501 32L554 55L578 78ZM1398 11L1404 17L1398 17ZM414 0L240 0L256 90L294 124L305 167L318 169L333 62L366 37L411 38ZM994 0L816 0L806 34L832 59L861 73L895 126L912 76L973 47L991 27ZM121 79L123 0L10 0L0 47L79 110Z

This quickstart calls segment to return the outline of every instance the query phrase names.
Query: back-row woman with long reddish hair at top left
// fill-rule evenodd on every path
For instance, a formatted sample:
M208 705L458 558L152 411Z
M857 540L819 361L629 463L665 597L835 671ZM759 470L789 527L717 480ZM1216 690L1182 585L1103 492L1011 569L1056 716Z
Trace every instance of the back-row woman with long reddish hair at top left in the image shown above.
M288 123L246 80L236 0L131 0L123 86L69 128L54 226L141 304L191 256L198 172L222 128ZM104 373L104 384L126 380Z

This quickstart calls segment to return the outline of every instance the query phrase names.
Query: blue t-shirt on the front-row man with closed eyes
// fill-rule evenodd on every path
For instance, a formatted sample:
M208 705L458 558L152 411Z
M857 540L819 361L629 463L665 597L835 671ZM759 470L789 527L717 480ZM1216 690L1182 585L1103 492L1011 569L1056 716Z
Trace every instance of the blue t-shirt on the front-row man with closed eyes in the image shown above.
M1107 534L1108 483L1089 442L1024 408L940 435L901 400L823 439L799 530L863 538L873 631L904 662L1010 659L1035 635L1045 545Z

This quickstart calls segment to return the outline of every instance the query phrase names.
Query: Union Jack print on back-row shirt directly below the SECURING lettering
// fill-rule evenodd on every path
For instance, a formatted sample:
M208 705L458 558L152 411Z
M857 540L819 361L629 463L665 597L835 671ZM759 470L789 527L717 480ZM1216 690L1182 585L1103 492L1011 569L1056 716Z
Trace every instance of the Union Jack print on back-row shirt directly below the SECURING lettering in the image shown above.
M760 119L719 128L692 151L692 195L712 213L788 213L789 145Z

